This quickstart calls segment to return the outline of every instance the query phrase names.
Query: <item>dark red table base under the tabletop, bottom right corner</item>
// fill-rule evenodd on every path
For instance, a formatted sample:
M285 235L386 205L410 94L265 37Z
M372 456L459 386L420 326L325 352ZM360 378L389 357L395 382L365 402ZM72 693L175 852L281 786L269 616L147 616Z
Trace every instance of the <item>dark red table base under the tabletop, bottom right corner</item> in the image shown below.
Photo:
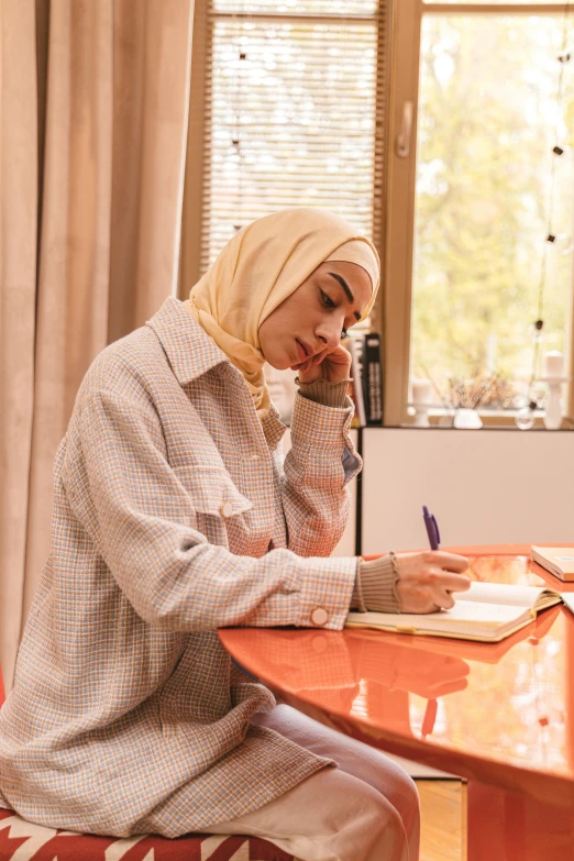
M574 861L567 807L468 781L467 861Z

